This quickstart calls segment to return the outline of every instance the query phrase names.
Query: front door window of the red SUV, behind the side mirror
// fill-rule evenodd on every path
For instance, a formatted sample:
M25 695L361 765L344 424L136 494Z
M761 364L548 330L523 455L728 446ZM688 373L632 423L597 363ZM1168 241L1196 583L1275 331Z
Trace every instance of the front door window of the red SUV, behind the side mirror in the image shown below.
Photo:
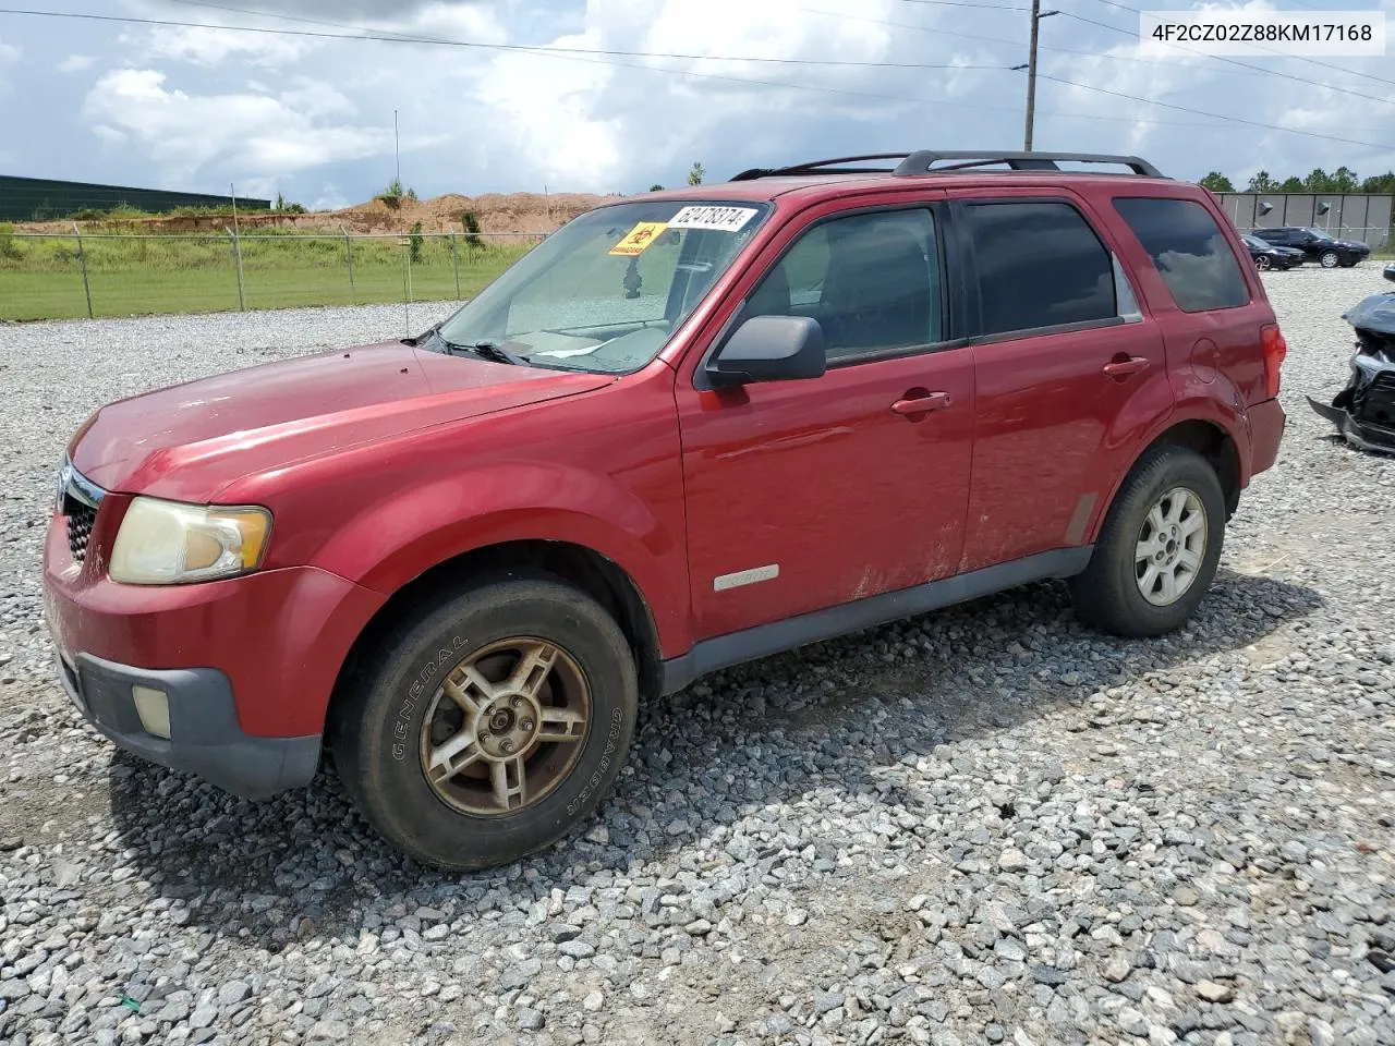
M850 215L798 240L752 291L746 315L812 317L829 361L944 340L929 211Z

